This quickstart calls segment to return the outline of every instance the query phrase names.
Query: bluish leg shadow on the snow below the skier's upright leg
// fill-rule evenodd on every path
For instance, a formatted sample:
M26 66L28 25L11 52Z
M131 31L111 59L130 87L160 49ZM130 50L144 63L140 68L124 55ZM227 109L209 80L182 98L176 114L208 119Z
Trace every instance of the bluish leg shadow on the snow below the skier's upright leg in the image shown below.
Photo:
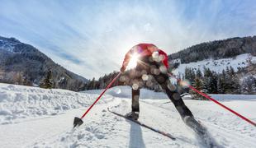
M136 123L130 123L130 142L129 148L145 148L141 127Z

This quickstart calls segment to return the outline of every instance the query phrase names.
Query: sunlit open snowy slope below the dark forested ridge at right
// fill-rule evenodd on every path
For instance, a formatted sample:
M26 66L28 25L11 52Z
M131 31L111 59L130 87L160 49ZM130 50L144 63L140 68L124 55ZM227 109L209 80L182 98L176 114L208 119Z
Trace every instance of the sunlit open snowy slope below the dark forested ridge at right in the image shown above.
M185 74L186 67L192 68L194 71L197 69L200 69L201 72L203 72L204 67L210 68L211 71L220 73L222 70L225 70L226 67L233 67L235 72L238 71L239 67L247 67L249 66L249 58L254 60L256 57L251 56L249 53L244 53L236 56L235 58L221 58L221 59L212 59L208 58L206 60L198 61L198 62L189 62L189 63L183 63L178 66L177 69L173 71L175 75L180 74L181 76ZM175 59L175 62L180 62L179 59Z

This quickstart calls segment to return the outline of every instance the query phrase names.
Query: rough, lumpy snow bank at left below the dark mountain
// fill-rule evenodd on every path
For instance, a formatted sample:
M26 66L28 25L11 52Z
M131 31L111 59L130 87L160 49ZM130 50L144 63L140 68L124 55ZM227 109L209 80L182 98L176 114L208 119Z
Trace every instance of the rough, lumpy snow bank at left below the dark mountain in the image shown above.
M97 95L0 83L0 124L87 107ZM106 100L102 100L106 101Z

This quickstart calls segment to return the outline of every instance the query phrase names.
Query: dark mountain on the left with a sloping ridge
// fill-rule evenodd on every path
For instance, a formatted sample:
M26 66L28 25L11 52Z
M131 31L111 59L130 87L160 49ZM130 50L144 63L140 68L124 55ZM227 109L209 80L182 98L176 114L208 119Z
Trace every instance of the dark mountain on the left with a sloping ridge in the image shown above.
M0 36L0 82L40 86L49 73L53 88L81 90L88 81L53 62L30 44Z

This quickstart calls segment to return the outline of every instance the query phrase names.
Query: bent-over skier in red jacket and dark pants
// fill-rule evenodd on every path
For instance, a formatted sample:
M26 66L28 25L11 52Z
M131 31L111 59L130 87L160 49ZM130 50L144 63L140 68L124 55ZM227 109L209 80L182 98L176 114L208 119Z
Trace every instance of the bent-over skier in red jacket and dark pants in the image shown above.
M177 87L173 86L168 79L168 56L163 50L154 44L137 44L126 53L126 57L121 67L121 72L126 70L130 58L138 56L135 73L130 77L132 81L132 104L131 112L126 116L137 120L139 118L140 88L144 84L150 84L151 77L159 83L165 90L168 98L171 99L178 113L183 118L184 123L192 127L196 132L203 134L204 128L195 120L192 112L184 104L178 93ZM152 84L152 83L151 83Z

